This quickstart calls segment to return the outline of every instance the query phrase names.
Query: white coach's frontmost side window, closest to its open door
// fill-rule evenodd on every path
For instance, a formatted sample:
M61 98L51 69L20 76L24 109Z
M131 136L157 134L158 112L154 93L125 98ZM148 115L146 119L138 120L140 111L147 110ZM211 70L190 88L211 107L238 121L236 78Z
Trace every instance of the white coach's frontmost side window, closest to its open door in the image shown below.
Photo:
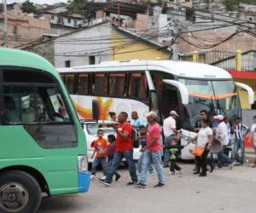
M148 83L144 74L131 74L129 96L143 99L148 98Z

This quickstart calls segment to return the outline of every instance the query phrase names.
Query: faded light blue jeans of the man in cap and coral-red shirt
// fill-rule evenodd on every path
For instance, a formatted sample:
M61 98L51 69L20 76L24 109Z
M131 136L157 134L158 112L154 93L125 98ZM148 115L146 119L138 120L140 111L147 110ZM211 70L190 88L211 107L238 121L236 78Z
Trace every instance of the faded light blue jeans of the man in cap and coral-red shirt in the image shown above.
M162 166L161 152L151 152L149 150L145 151L145 156L143 158L143 168L142 168L142 176L140 178L140 182L147 184L148 177L148 168L149 164L153 162L155 166L155 170L158 175L158 180L160 183L165 184L165 176L164 169Z

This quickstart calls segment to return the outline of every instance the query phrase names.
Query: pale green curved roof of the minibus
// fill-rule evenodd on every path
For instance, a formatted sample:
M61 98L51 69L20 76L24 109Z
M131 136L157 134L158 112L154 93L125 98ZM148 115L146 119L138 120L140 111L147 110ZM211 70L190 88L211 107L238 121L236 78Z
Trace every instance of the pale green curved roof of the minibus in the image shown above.
M0 66L31 67L55 74L55 67L48 60L20 49L0 48Z

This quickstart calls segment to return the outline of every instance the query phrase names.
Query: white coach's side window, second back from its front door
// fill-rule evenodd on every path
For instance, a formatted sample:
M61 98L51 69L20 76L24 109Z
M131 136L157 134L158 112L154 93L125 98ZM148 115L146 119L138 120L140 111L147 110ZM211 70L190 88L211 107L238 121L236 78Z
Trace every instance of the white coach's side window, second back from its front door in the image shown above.
M118 97L125 96L125 74L110 74L109 95Z

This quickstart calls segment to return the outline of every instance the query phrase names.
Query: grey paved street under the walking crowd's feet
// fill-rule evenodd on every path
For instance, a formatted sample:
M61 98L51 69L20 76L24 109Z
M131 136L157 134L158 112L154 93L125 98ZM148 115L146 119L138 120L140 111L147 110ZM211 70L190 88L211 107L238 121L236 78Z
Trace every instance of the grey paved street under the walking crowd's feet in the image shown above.
M129 174L125 169L118 182L110 187L92 181L90 192L44 199L39 213L49 212L255 212L256 169L248 165L233 170L214 170L207 177L192 175L193 164L181 164L183 176L169 176L165 169L166 187L154 188L157 176L148 178L148 187L127 187ZM98 172L97 176L102 176Z

